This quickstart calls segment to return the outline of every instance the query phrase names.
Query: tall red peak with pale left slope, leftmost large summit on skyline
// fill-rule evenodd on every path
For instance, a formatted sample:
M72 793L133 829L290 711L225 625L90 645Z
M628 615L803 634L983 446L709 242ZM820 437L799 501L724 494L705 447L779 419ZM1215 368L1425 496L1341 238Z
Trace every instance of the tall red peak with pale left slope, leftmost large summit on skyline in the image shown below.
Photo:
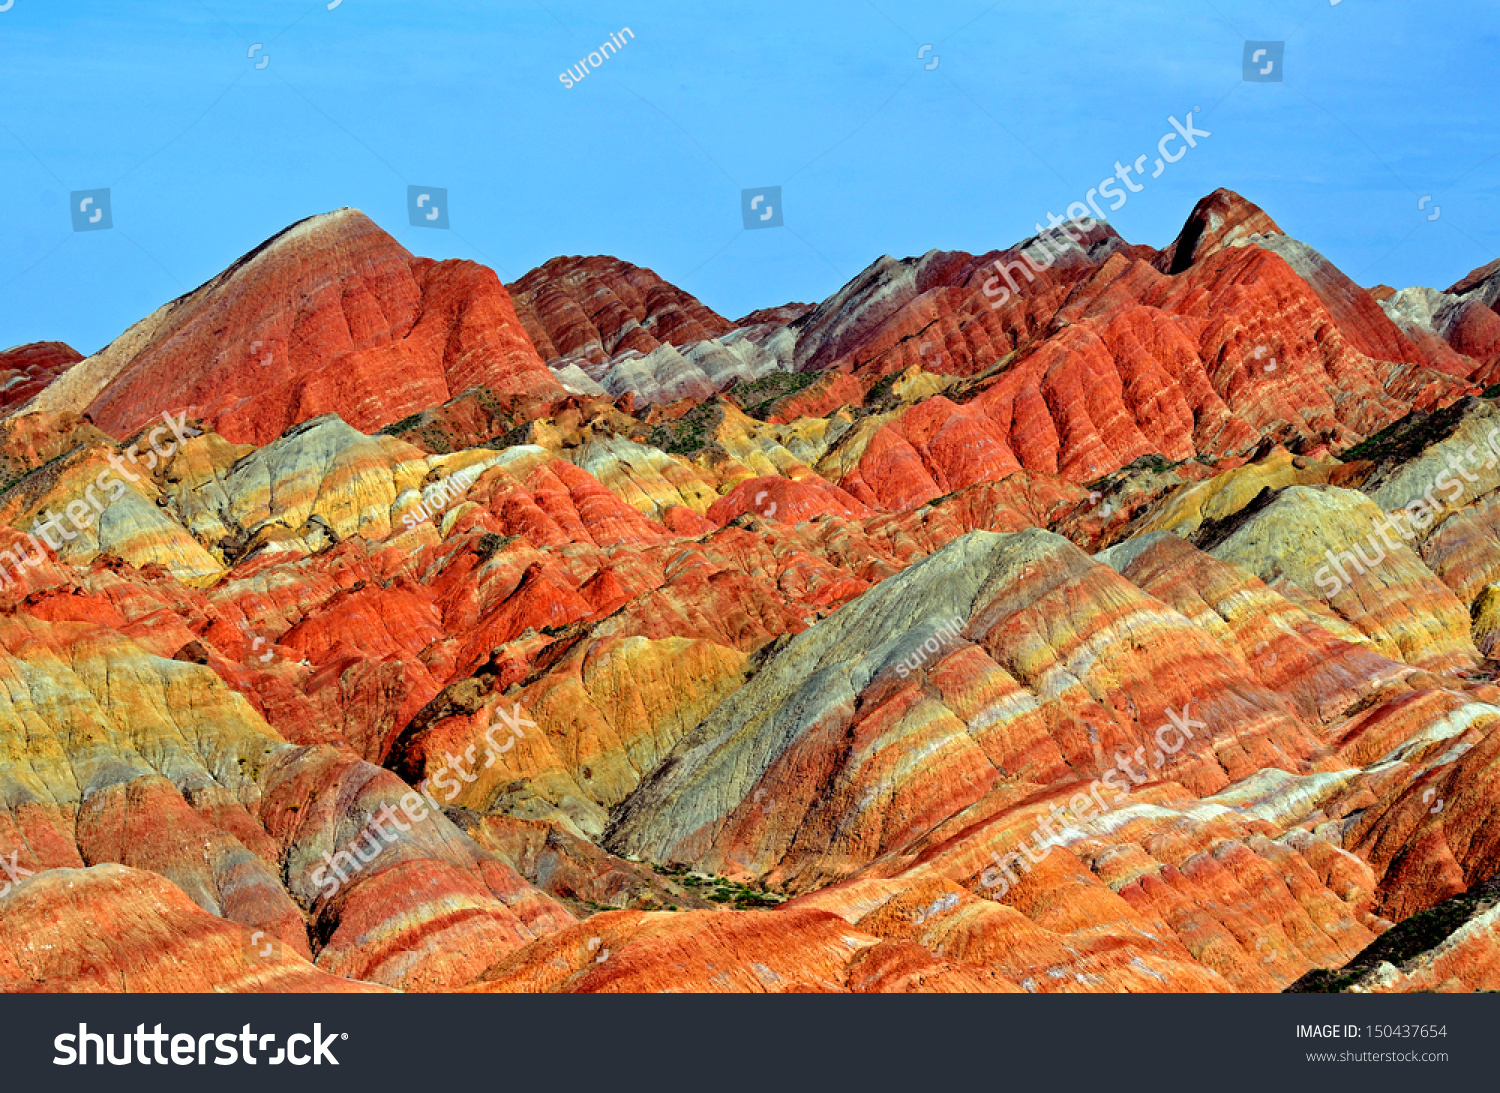
M412 258L345 208L267 240L27 409L88 412L117 435L182 411L264 444L327 412L375 430L477 384L516 405L564 393L490 270Z

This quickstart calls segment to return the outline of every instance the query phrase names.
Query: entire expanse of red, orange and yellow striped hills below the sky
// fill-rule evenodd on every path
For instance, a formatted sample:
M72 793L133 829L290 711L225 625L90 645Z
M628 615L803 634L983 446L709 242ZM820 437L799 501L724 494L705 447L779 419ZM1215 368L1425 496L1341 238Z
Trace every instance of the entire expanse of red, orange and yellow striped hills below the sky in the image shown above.
M0 988L1359 967L1500 873L1496 283L1220 190L730 322L344 210L12 351Z

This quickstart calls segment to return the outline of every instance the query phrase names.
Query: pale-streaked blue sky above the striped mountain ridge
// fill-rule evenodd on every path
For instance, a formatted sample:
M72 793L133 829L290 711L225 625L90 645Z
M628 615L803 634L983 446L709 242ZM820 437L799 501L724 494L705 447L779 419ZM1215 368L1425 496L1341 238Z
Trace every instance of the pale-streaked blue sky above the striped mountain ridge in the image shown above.
M1500 256L1497 27L1478 0L14 0L0 346L93 352L340 205L506 280L616 255L736 318L1014 243L1194 106L1212 136L1112 214L1125 238L1228 186L1364 285L1443 288ZM1282 82L1242 78L1246 39L1287 43ZM448 190L450 231L408 223L408 184ZM746 231L741 190L776 184L784 228ZM74 232L96 187L116 228Z

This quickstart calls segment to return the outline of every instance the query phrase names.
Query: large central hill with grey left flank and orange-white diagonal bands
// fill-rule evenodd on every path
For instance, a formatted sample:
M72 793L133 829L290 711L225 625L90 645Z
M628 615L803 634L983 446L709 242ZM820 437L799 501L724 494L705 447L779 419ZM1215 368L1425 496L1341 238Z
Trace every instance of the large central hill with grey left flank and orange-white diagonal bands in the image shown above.
M1048 610L1050 600L1070 598L1110 603L1110 619L1074 631ZM1174 688L1142 648L1128 664L1114 660L1120 637L1140 646L1149 631L1160 631L1162 654L1173 651ZM852 660L854 649L867 652ZM1048 682L1086 655L1100 682ZM1101 703L1104 679L1113 690ZM1186 708L1234 736L1233 753L1164 759L1149 732L1168 709ZM814 757L834 741L849 751L819 769ZM974 532L788 645L678 745L676 762L632 798L609 844L804 889L992 795L1070 774L1088 781L1113 765L1112 753L1140 747L1155 751L1155 769L1206 795L1260 766L1296 766L1316 741L1242 657L1227 657L1066 541ZM777 805L766 814L746 808L747 798Z

